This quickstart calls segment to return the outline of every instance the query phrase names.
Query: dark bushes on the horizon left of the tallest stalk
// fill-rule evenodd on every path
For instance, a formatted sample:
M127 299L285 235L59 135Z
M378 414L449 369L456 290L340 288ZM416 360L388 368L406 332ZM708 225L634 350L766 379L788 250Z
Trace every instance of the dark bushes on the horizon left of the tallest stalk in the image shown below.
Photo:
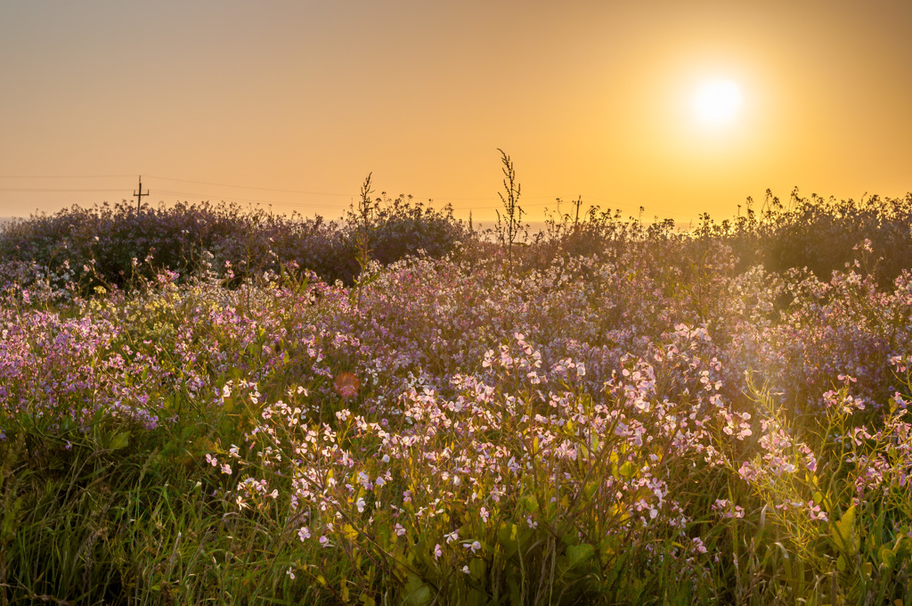
M420 251L450 253L467 235L452 209L436 210L399 196L376 200L368 225L371 258L389 264ZM322 217L286 217L236 204L130 204L79 206L32 215L0 228L0 283L23 283L24 264L34 276L67 275L84 290L123 287L150 279L160 268L181 276L214 269L242 279L294 262L329 283L351 284L358 275L356 225ZM36 269L37 268L37 269ZM230 272L228 271L230 269ZM40 271L39 271L40 270ZM27 272L26 272L27 273Z

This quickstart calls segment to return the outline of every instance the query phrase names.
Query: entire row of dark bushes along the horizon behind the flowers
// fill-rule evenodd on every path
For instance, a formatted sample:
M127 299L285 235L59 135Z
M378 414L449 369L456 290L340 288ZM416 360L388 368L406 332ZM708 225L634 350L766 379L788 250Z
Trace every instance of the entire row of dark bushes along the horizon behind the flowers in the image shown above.
M453 217L451 206L434 209L387 193L367 204L367 213L353 207L343 220L329 222L224 203L181 203L139 213L126 203L102 204L33 215L0 226L0 287L79 285L90 292L151 279L161 268L181 277L212 270L236 284L287 264L313 270L330 284L351 285L362 268L358 238L365 235L369 259L381 265L457 250L470 263L472 257L501 254L508 263L490 230L472 231ZM597 256L616 262L660 259L659 269L677 272L684 282L694 272L730 276L757 265L775 272L807 267L826 280L860 259L881 287L889 287L903 269L912 269L912 193L837 202L795 191L786 205L767 192L759 212L749 200L746 213L720 223L702 214L689 232L670 219L648 224L597 206L580 213L582 200L573 204L575 212L552 214L540 234L517 238L513 265L519 274L551 266L557 257ZM731 248L734 264L698 267L700 259L730 258L717 256L718 246ZM664 253L644 254L657 247Z

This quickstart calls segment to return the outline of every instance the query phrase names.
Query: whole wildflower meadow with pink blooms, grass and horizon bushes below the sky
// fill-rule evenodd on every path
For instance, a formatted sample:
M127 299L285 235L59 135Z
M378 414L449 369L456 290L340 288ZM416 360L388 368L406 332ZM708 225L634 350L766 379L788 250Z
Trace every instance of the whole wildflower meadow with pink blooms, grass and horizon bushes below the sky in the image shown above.
M0 604L909 603L912 194L512 183L0 228Z

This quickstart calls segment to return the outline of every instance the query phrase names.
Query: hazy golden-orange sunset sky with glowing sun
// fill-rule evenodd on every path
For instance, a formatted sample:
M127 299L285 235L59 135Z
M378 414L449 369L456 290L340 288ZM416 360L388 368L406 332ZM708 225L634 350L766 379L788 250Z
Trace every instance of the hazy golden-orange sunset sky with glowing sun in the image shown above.
M689 225L912 191L907 0L0 0L0 216L376 193ZM703 99L701 102L699 99ZM741 210L739 210L741 205Z

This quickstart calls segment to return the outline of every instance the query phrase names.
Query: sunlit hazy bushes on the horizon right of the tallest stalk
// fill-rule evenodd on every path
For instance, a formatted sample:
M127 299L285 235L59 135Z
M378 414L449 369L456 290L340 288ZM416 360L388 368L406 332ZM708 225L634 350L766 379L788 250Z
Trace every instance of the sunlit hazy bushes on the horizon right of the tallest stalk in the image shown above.
M730 246L736 259L731 271L737 273L757 265L775 272L807 267L827 280L862 259L869 264L865 271L889 287L903 269L912 269L912 193L836 201L816 194L801 197L795 190L785 205L767 191L759 213L751 206L749 199L745 214L720 223L701 214L699 225L688 232L676 230L670 219L646 224L597 206L582 214L578 208L557 212L527 247L523 266L546 266L555 256L617 259L639 246L670 246L668 251L676 252L664 256L663 263L687 272L707 246Z

